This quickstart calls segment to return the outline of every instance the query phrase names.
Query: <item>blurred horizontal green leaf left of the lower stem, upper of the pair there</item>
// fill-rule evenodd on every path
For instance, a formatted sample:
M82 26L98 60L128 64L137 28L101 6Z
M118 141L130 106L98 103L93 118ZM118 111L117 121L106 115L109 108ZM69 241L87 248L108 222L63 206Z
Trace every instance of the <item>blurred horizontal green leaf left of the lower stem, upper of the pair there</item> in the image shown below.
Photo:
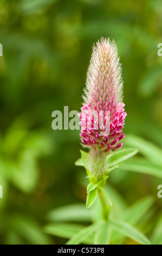
M48 212L49 221L92 221L92 210L85 204L69 204Z

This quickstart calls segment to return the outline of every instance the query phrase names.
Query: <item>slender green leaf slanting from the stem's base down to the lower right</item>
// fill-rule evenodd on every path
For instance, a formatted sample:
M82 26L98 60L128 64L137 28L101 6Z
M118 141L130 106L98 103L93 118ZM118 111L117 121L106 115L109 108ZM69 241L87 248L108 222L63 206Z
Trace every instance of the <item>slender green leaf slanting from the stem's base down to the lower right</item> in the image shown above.
M147 237L130 224L118 220L109 220L108 223L113 229L131 238L132 240L137 241L142 245L151 245L151 242L147 239Z

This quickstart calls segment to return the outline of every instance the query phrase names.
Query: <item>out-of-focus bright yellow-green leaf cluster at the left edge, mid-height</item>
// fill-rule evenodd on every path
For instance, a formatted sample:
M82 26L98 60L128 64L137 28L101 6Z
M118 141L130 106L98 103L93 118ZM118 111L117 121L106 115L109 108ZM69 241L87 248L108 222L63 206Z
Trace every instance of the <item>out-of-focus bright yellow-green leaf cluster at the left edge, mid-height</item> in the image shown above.
M38 180L37 158L49 154L51 143L42 132L27 134L26 130L15 130L14 127L7 132L2 150L11 160L9 156L4 157L0 168L2 166L1 172L14 186L24 193L31 193ZM12 155L17 155L18 160L13 161Z

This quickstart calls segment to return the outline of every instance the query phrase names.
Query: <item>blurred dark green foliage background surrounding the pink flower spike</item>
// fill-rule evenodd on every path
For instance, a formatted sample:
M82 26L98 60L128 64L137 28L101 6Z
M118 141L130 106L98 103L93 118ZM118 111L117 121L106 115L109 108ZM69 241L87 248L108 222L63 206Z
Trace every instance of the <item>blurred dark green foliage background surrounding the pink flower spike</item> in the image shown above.
M52 130L51 113L64 106L80 111L92 45L101 36L114 38L118 47L126 135L144 138L160 152L161 11L160 0L0 1L1 244L62 243L42 231L47 212L85 203L86 173L74 166L82 149L79 130ZM131 139L127 144L135 147ZM128 204L152 194L149 230L161 216L160 177L114 170L108 179Z

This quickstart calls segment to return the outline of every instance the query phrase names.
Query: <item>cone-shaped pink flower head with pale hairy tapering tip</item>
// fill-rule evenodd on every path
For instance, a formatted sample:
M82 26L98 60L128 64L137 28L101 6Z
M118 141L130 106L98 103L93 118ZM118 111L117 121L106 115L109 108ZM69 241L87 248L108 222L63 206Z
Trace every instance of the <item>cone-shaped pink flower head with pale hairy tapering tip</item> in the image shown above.
M93 47L81 108L82 143L103 151L118 149L124 138L121 64L115 41L101 38Z

